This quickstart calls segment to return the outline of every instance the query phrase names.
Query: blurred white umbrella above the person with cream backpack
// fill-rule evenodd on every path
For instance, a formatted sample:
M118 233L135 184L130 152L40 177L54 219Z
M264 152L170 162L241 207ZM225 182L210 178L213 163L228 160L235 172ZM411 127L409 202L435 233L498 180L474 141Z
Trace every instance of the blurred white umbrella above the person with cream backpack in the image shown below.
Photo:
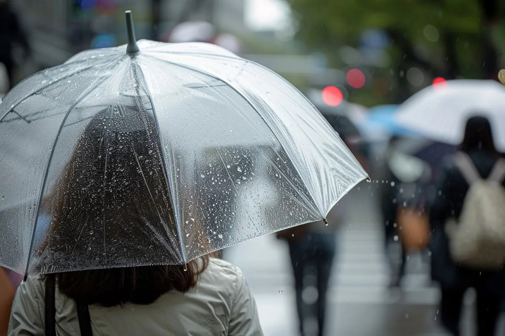
M427 138L459 144L470 117L484 116L495 145L505 150L505 87L492 80L451 80L429 86L401 104L395 121Z

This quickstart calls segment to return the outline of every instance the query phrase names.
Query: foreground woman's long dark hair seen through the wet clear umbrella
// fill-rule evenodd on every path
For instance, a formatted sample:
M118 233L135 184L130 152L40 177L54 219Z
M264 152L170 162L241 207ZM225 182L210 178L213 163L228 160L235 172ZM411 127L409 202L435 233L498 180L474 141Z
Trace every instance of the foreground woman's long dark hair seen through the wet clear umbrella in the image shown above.
M139 109L132 102L96 114L41 205L51 223L38 271L86 304L149 304L171 290L187 292L208 264L209 256L180 264L158 129Z

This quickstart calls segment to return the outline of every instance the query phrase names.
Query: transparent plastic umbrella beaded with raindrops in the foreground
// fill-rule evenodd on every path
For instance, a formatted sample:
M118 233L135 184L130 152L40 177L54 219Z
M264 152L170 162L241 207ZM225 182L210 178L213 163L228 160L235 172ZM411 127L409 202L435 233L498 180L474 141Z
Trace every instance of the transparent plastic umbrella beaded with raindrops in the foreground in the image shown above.
M367 177L275 73L131 27L7 94L0 162L0 264L25 274L184 264L321 220Z

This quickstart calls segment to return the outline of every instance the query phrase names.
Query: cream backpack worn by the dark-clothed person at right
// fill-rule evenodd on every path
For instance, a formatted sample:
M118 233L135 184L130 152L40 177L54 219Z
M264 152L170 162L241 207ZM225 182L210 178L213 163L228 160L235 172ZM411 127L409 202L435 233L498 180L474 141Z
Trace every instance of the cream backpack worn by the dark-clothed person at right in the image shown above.
M505 263L505 160L498 159L483 179L472 159L456 153L456 164L470 185L458 225L446 226L453 260L477 269L502 269Z

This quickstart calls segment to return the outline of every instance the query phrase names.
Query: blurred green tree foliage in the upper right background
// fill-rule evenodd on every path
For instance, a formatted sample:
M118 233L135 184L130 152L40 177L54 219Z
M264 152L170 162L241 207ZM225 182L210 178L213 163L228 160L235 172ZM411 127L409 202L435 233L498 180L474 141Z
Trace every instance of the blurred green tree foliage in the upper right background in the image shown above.
M342 63L343 45L359 46L367 29L389 36L389 63L370 71L386 79L401 101L421 87L410 87L412 67L431 78L496 78L504 45L502 0L288 0L298 22L297 37L323 51L332 66ZM432 27L436 30L433 31ZM431 29L431 30L430 30ZM375 76L374 76L375 77Z

